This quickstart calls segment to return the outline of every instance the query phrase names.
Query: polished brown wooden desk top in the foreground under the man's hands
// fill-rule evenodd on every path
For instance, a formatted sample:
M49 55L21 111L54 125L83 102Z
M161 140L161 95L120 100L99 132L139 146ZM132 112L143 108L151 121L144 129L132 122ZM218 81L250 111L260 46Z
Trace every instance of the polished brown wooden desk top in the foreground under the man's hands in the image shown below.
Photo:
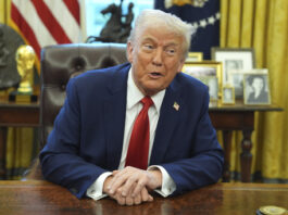
M288 207L288 185L217 184L179 197L121 206L112 199L78 200L47 181L0 181L0 214L243 215L260 206Z

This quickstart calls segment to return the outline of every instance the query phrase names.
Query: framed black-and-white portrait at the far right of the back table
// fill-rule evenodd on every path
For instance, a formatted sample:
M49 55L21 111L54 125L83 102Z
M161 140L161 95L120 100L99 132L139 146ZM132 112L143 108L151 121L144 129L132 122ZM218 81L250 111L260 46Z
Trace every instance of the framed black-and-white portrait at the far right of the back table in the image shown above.
M245 104L271 104L268 74L243 75Z

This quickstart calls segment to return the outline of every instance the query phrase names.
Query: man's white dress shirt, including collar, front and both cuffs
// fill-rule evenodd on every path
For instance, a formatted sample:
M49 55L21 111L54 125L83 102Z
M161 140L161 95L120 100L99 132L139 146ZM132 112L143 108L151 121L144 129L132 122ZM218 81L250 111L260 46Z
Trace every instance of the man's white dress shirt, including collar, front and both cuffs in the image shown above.
M155 129L160 116L160 109L162 105L162 101L165 96L165 90L162 90L158 92L156 94L152 96L151 99L153 101L153 104L148 110L148 116L149 116L149 124L150 124L150 142L149 142L149 155L148 155L148 164L150 162L151 152L153 148L154 137L155 137ZM134 126L134 122L136 117L138 116L139 112L142 109L142 103L140 100L145 96L142 92L137 88L135 85L135 81L132 76L132 69L128 74L128 80L127 80L127 100L126 100L126 118L125 118L125 129L124 129L124 139L123 139L123 148L122 148L122 155L121 155L121 162L118 169L123 169L125 167L127 151L129 147L129 140L132 136L132 130ZM176 185L168 175L168 173L162 167L162 166L149 166L148 169L158 168L162 173L162 187L161 189L156 189L155 191L160 193L163 197L170 195L172 192L175 191ZM107 172L100 175L97 180L87 189L86 194L93 200L99 200L107 194L103 194L103 182L107 179L108 176L110 176L112 173Z

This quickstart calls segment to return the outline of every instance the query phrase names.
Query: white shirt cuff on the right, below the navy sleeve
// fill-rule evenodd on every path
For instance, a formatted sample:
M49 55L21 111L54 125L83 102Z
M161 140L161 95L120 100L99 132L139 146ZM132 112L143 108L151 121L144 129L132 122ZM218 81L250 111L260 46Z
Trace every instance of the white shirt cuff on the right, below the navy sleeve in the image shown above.
M148 170L152 169L160 169L162 173L162 186L161 189L155 189L154 191L161 194L162 197L166 198L170 194L172 194L176 190L176 184L172 179L172 177L168 175L165 168L159 165L149 166Z

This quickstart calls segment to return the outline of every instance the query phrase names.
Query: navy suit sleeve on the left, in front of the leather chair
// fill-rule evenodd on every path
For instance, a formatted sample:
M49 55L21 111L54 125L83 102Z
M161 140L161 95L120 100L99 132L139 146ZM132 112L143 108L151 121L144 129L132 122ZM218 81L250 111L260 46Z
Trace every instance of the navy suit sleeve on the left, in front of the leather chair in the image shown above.
M66 187L77 198L82 198L88 187L107 170L80 157L82 116L75 78L70 80L66 92L65 103L39 157L47 180Z

